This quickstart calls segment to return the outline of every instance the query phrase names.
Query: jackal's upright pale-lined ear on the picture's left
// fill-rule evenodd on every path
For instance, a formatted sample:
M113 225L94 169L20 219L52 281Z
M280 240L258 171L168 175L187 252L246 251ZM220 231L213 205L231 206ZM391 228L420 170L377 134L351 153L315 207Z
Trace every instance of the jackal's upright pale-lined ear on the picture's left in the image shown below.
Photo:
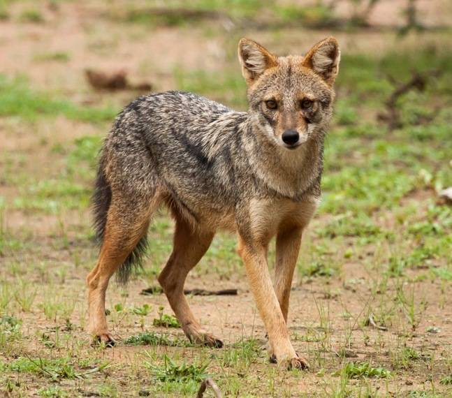
M248 38L242 38L238 43L238 59L242 65L242 75L250 84L266 69L276 66L276 57L264 47Z

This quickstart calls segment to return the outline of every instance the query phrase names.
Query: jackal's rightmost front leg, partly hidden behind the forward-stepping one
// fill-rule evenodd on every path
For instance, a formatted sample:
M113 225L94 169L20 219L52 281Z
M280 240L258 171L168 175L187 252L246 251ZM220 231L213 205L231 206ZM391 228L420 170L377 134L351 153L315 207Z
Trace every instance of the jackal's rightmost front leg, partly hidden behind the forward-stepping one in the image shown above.
M300 227L286 228L279 231L276 238L275 292L286 323L293 271L300 252L301 234Z

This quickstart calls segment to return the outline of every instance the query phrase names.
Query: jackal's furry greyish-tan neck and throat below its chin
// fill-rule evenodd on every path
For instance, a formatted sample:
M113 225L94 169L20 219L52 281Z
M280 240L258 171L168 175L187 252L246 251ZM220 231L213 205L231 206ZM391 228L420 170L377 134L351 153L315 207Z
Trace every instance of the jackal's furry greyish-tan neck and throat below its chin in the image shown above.
M323 167L323 137L323 133L319 134L290 150L270 140L249 120L243 147L256 177L270 189L295 199L319 181Z

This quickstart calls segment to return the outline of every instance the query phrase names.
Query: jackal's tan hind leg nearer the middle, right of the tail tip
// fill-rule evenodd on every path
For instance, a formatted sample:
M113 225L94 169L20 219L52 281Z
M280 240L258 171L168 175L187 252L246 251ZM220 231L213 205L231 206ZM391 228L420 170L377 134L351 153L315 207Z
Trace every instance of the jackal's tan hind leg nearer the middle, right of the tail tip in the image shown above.
M201 328L184 296L187 274L204 256L213 237L211 231L193 230L186 221L177 217L173 253L159 275L159 283L189 340L220 348L222 341Z

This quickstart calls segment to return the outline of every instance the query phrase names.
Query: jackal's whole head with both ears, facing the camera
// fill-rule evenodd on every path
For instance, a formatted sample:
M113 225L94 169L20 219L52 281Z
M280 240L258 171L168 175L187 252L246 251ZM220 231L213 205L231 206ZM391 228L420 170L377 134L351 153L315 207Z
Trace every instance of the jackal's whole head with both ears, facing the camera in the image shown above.
M326 38L305 57L277 57L246 38L238 45L249 112L258 131L288 149L324 133L339 71L337 40Z

